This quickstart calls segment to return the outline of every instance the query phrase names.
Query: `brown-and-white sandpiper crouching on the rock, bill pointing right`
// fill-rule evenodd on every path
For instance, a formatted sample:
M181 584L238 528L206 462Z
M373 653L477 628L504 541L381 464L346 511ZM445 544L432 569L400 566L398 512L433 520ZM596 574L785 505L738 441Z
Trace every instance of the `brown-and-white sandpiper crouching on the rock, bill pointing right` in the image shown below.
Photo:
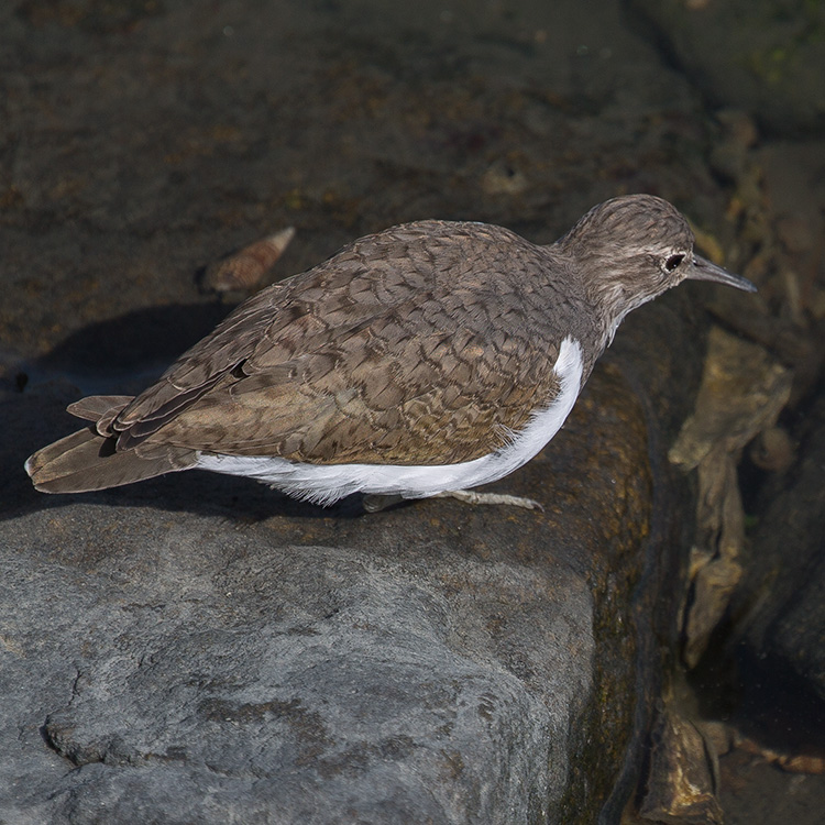
M756 292L693 248L644 194L547 245L472 221L392 227L253 295L139 395L69 405L88 426L25 469L44 493L201 469L318 505L531 507L474 488L556 436L628 312L685 279Z

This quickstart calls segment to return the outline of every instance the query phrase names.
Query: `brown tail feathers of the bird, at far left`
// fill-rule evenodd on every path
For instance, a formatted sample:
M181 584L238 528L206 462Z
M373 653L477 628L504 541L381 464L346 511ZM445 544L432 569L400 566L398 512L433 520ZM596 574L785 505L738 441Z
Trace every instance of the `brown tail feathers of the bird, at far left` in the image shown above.
M25 471L35 488L42 493L86 493L193 466L195 451L185 448L140 443L117 449L117 436L107 435L106 428L130 400L124 396L90 396L70 405L69 413L97 426L73 432L29 458Z

